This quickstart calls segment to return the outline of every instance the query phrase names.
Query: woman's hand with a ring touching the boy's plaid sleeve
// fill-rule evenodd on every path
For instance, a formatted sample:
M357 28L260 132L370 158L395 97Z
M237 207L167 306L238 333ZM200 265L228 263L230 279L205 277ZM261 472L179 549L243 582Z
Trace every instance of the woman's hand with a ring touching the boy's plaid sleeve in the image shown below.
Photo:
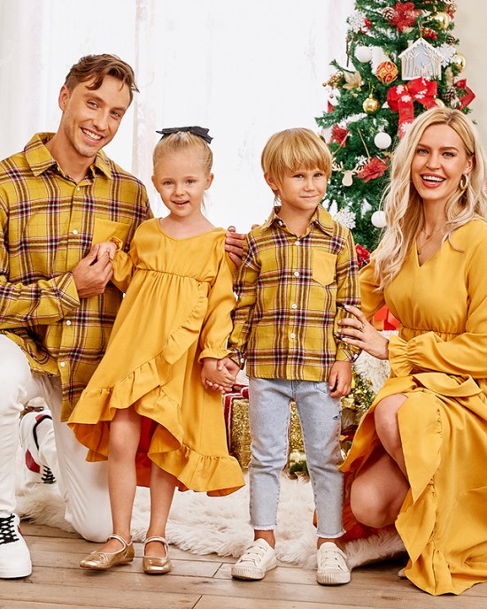
M359 347L375 358L389 359L389 340L377 332L356 306L345 305L344 308L353 317L338 321L340 329L336 333L336 339Z

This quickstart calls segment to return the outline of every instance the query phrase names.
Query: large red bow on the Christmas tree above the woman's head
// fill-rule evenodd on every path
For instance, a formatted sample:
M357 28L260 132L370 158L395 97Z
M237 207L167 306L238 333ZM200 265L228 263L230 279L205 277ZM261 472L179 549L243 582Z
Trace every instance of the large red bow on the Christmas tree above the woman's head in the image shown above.
M406 133L414 120L414 102L426 108L436 105L437 82L425 78L415 78L407 84L391 87L387 92L387 103L392 112L399 112L399 137Z

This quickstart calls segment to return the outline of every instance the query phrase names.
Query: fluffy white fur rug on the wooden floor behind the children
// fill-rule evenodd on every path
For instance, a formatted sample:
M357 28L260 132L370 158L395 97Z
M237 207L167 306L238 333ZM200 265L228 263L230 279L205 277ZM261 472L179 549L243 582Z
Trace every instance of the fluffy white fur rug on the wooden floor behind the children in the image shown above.
M19 485L18 513L39 524L72 531L64 518L64 502L57 484ZM282 562L304 568L316 567L316 532L313 527L313 493L304 479L282 476L276 554ZM143 541L149 523L149 493L137 489L132 531L136 542ZM167 527L167 541L195 554L216 553L237 558L251 541L248 487L228 497L207 497L203 493L176 492ZM348 543L351 567L389 559L404 551L399 536L379 536Z

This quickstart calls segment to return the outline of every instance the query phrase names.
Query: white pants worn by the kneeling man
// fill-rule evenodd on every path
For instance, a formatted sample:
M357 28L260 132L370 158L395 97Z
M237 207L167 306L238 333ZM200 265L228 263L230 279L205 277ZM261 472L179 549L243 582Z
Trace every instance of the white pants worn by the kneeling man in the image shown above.
M33 374L23 351L5 335L0 335L0 517L15 512L19 416L34 397L43 397L52 413L66 520L85 539L104 542L112 533L107 464L88 463L87 449L61 422L59 378Z

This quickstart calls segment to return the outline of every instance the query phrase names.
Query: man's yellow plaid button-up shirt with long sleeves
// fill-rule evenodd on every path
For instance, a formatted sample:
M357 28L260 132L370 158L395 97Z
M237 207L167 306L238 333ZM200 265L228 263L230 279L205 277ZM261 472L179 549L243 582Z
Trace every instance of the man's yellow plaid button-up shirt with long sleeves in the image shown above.
M127 251L149 212L141 181L100 151L76 184L36 134L0 162L0 332L32 368L60 374L63 419L104 354L121 294L112 283L79 299L71 271L92 243L119 237Z

